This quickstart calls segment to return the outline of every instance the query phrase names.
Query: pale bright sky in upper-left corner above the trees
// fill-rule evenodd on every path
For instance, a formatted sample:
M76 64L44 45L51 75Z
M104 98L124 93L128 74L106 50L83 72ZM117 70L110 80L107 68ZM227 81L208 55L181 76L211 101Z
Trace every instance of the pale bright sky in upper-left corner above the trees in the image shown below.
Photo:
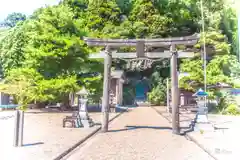
M30 15L37 8L57 4L60 0L0 0L0 21L9 13L21 12Z

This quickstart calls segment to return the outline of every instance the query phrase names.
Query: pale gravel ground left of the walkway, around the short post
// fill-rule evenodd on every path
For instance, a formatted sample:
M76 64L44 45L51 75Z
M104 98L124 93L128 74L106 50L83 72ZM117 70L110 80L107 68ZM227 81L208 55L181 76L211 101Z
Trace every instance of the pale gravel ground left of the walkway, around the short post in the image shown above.
M12 115L13 111L0 112L0 160L52 160L99 127L63 128L63 118L71 113L26 113L24 147L14 148ZM110 118L115 115L111 113ZM90 117L101 121L101 113L90 113Z

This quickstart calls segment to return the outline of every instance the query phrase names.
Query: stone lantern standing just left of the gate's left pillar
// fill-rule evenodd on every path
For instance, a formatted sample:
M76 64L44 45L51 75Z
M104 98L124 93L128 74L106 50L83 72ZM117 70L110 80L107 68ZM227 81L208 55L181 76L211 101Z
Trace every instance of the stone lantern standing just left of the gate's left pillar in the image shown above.
M84 128L93 126L93 121L89 118L87 111L88 94L89 92L85 88L82 88L79 92L76 93L78 96L79 117Z

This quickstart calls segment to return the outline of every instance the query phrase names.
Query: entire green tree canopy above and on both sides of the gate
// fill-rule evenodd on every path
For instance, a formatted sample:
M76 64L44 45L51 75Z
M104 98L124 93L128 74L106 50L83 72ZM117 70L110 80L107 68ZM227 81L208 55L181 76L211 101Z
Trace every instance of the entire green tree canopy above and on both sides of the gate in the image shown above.
M196 56L179 62L180 71L190 74L181 79L180 86L195 90L203 85L203 36L207 47L207 83L232 84L240 71L236 59L236 12L223 0L206 0L203 8L205 33L201 32L199 0L63 0L36 10L27 19L21 14L9 15L6 22L12 28L0 39L1 68L8 80L5 83L14 84L17 77L25 82L19 74L24 71L31 82L24 84L38 88L29 89L31 97L39 95L31 99L35 101L64 100L68 93L82 86L99 92L101 76L79 76L89 71L102 72L101 61L88 59L90 53L101 48L88 47L82 40L84 36L160 38L198 32L202 36L193 47ZM163 79L168 77L169 68L158 69L159 65L152 70ZM29 77L32 73L40 78ZM43 94L46 97L40 96Z

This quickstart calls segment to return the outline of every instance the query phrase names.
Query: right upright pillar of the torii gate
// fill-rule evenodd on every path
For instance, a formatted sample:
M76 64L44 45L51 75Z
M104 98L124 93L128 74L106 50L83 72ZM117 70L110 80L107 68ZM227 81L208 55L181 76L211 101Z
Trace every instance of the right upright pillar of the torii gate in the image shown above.
M177 73L177 52L175 45L171 46L171 80L172 80L172 131L179 134L179 89L178 89L178 73Z

